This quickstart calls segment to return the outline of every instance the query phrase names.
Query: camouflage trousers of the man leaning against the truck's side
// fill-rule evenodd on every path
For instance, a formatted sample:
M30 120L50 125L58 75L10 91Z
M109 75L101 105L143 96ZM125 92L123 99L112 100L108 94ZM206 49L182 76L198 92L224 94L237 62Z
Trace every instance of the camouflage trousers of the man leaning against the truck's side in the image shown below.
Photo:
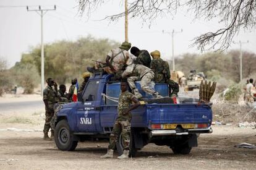
M119 121L114 122L113 130L109 137L109 150L116 148L116 142L119 135L122 135L122 141L124 142L124 150L129 150L130 147L130 121Z

